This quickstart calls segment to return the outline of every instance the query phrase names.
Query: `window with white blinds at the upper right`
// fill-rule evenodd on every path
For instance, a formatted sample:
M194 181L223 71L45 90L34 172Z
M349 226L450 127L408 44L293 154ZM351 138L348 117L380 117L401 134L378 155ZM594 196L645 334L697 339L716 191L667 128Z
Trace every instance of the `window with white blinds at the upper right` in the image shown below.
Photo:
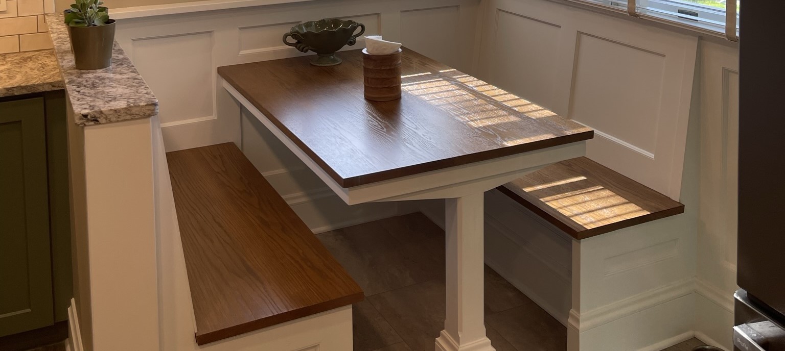
M660 22L665 21L681 27L696 27L702 31L724 34L729 40L738 40L740 0L571 1L605 5L629 13L632 16L658 20ZM728 11L732 11L733 15L730 17L726 16ZM728 26L733 29L726 30Z

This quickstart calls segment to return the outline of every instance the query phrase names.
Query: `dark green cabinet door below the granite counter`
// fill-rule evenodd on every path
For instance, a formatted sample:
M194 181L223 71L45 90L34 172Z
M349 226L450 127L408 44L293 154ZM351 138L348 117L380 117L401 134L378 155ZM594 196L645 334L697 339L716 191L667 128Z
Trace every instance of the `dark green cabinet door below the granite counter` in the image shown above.
M0 336L53 324L42 98L0 103Z

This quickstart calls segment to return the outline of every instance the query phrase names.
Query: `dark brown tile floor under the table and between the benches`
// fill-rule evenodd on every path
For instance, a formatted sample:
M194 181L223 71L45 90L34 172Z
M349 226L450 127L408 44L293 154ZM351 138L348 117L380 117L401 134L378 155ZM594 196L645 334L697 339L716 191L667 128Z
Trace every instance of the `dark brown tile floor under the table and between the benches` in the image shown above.
M414 213L317 234L360 284L354 351L433 351L444 327L444 231ZM485 267L488 338L498 351L564 351L567 329ZM666 351L690 351L692 339ZM626 351L626 350L608 350Z

